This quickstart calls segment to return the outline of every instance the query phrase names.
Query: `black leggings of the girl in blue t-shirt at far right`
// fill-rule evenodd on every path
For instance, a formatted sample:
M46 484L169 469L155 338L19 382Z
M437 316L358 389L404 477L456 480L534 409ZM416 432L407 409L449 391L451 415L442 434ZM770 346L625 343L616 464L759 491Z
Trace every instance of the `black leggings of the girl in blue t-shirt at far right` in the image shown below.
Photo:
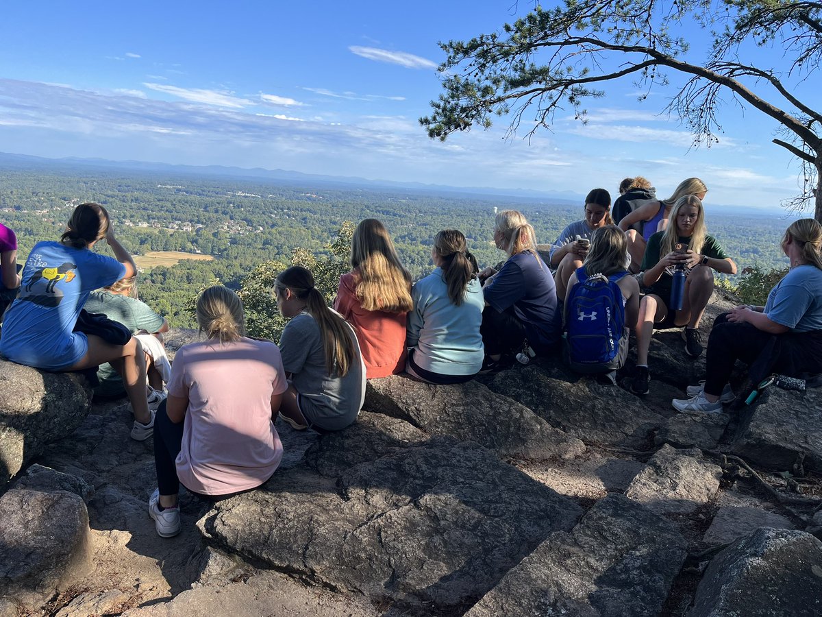
M772 373L798 377L822 371L822 331L769 334L748 322L729 322L722 313L713 322L705 353L705 392L718 397L737 360L749 364L749 378L759 383Z

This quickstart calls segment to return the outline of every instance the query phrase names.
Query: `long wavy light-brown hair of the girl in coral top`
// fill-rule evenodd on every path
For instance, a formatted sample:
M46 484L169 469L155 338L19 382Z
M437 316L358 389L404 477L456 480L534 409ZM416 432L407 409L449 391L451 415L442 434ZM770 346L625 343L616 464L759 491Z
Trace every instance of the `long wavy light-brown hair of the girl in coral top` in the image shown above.
M367 311L407 313L413 308L411 275L399 262L386 226L376 219L357 225L351 239L355 293Z

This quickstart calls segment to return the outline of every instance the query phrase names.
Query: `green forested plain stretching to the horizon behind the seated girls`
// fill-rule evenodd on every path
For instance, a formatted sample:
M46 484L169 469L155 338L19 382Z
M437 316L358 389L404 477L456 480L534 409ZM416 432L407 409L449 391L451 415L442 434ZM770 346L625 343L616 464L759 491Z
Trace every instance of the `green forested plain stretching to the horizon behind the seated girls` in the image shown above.
M215 280L239 289L255 268L268 262L290 264L298 249L302 263L311 256L329 257L330 245L345 221L382 220L404 264L418 279L432 270L434 235L448 228L465 234L480 264L501 261L505 256L491 237L495 207L522 211L544 243L553 242L568 223L582 218L581 198L574 205L81 167L59 171L16 168L0 173L0 222L15 230L21 262L39 240L57 239L72 208L84 201L96 201L109 209L118 239L132 253L177 250L213 255L215 261L186 260L141 274L141 299L179 327L193 327L187 306ZM710 232L740 268L785 265L779 239L786 220L774 215L712 213L710 202L707 212ZM270 269L268 264L257 270L261 280L276 274Z

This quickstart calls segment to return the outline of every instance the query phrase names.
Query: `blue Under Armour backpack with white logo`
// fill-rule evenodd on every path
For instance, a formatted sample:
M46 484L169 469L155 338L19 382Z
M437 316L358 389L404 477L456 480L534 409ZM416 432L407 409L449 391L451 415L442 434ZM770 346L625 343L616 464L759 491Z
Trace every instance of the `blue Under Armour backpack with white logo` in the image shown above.
M625 306L617 285L626 271L609 277L576 271L567 305L566 349L571 369L607 373L622 368L628 355Z

